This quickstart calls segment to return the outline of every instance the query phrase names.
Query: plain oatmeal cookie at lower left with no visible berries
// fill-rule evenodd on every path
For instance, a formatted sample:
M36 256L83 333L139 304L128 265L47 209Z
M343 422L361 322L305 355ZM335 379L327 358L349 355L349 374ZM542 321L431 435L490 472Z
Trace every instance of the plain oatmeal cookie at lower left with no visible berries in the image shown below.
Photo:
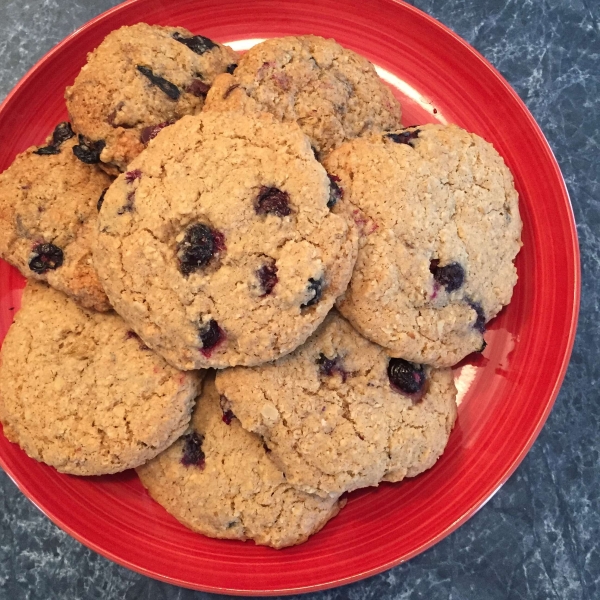
M32 458L72 475L136 467L188 426L200 384L114 313L30 281L2 345L0 420Z

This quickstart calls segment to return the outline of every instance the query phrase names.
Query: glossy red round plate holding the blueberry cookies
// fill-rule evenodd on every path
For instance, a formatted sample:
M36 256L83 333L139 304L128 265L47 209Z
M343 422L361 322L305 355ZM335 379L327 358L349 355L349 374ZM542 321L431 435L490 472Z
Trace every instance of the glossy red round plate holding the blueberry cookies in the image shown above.
M28 498L90 548L191 588L305 592L415 556L468 519L514 471L550 412L569 360L579 307L579 249L567 191L543 134L489 63L406 4L133 0L61 42L8 96L0 107L0 169L66 117L63 91L86 53L111 30L140 20L182 25L224 42L303 33L334 37L388 72L405 124L454 122L492 142L521 196L519 283L512 304L490 326L484 356L456 370L459 418L439 463L412 481L352 494L338 517L296 548L275 551L195 535L150 500L135 473L59 475L0 436L2 466ZM0 282L2 339L23 280L1 263Z

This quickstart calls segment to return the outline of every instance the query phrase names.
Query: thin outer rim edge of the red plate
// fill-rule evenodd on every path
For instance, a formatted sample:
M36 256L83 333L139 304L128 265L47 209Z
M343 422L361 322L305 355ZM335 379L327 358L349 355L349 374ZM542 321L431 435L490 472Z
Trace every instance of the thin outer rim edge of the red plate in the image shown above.
M484 58L477 50L475 50L470 44L468 44L460 36L458 36L456 33L454 33L451 29L449 29L448 27L446 27L444 24L440 23L433 17L429 16L427 13L421 11L418 8L415 8L414 6L412 6L410 4L403 2L402 0L389 0L389 1L392 2L393 4L396 4L399 7L401 7L402 10L407 10L409 12L414 13L419 18L426 20L431 27L433 27L437 30L440 30L445 35L450 36L454 43L458 43L461 46L463 46L465 49L467 49L468 52L479 61L481 66L484 67L490 73L490 75L494 79L496 79L497 82L500 82L502 84L502 86L505 88L506 92L508 92L508 94L510 96L512 96L513 100L517 103L517 105L521 109L522 116L524 118L526 118L529 121L530 125L532 126L532 129L535 132L536 137L540 141L541 146L544 148L544 150L548 156L548 165L552 166L554 174L556 175L557 182L560 184L560 191L565 200L565 205L568 206L568 208L569 208L569 215L568 215L569 223L568 223L568 225L569 225L570 241L572 242L572 248L570 250L571 250L572 256L573 256L573 279L574 279L575 285L573 288L573 304L572 304L572 313L570 315L570 329L569 329L569 337L568 337L567 345L566 345L566 351L564 353L560 372L559 372L558 376L556 377L555 385L553 387L551 396L548 399L548 402L546 404L545 411L543 412L541 418L539 419L537 426L535 427L535 429L532 431L531 435L527 439L526 444L523 446L523 448L518 453L518 455L514 458L514 460L510 464L506 465L505 469L503 470L501 475L498 476L497 480L493 483L493 485L486 486L486 489L482 493L480 493L479 497L473 503L473 505L468 510L466 510L461 515L460 518L458 518L453 523L451 523L448 527L446 527L445 529L440 531L437 535L432 537L426 543L421 544L420 546L415 548L412 552L408 553L407 555L401 556L400 558L395 559L395 560L388 561L385 564L381 564L376 568L371 568L366 571L356 573L351 577L332 579L326 583L318 584L318 585L308 585L308 586L302 586L302 587L285 588L285 589L278 589L276 591L268 590L268 589L265 589L265 590L235 589L234 590L231 588L219 588L219 587L215 587L215 586L202 586L202 585L197 585L197 584L190 584L189 582L179 580L177 578L169 577L160 572L139 566L137 564L134 564L134 563L128 561L127 559L117 556L114 553L98 546L94 541L87 539L87 537L85 535L80 535L76 530L72 529L61 518L59 518L57 515L55 515L53 513L53 511L47 510L44 505L43 500L38 499L35 496L35 494L30 491L30 489L28 488L27 485L23 485L19 481L17 481L14 473L7 466L3 457L0 455L0 466L2 466L4 471L11 477L11 479L17 485L19 490L37 508L39 508L53 523L55 523L57 526L59 526L61 529L66 531L69 535L74 537L76 540L78 540L79 542L81 542L82 544L87 546L88 548L94 550L95 552L101 554L102 556L109 558L110 560L112 560L124 567L127 567L127 568L129 568L133 571L136 571L138 573L141 573L143 575L152 577L154 579L158 579L158 580L161 580L161 581L164 581L164 582L167 582L170 584L174 584L174 585L188 587L191 589L196 589L196 590L206 591L206 592L213 592L213 593L248 595L248 596L307 593L307 592L312 592L312 591L333 588L336 586L352 583L352 582L364 579L364 578L372 576L372 575L376 575L376 574L381 573L387 569L390 569L396 565L404 563L407 560L410 560L414 556L416 556L416 555L420 554L421 552L427 550L428 548L432 547L437 542L439 542L440 540L442 540L443 538L448 536L450 533L455 531L458 527L460 527L460 525L465 523L480 508L482 508L494 496L494 494L500 489L500 487L502 487L502 485L506 482L506 480L514 473L516 468L519 466L519 464L521 463L521 461L527 454L527 452L530 450L531 446L533 445L534 441L536 440L537 436L539 435L542 427L544 426L544 424L548 418L548 415L550 414L550 411L552 410L552 407L554 405L554 402L556 400L556 397L558 395L558 392L559 392L562 382L564 380L565 373L566 373L566 370L567 370L567 367L568 367L568 364L570 361L573 344L575 341L576 331L577 331L577 321L578 321L578 315L579 315L580 294L581 294L580 252L579 252L579 243L578 243L578 237L577 237L577 228L576 228L576 224L575 224L575 218L574 218L574 214L573 214L571 200L570 200L569 193L568 193L564 178L562 176L560 167L558 166L556 157L554 156L554 153L553 153L545 135L543 134L542 130L540 129L540 127L537 124L536 120L534 119L533 115L529 112L529 109L527 108L525 103L517 95L517 93L510 86L510 84L504 79L504 77L501 75L501 73L486 58ZM54 46L51 50L49 50L42 58L40 58L40 60L38 60L35 63L35 65L33 67L31 67L31 69L29 69L29 71L20 79L20 81L15 85L15 87L6 96L4 101L0 104L0 118L3 115L3 113L6 109L6 106L10 103L12 97L18 92L18 90L23 85L25 85L26 82L29 81L29 79L31 77L33 77L39 69L43 68L45 63L48 62L48 60L55 53L59 52L61 50L61 48L65 44L68 43L69 40L71 40L73 37L79 36L82 33L86 32L88 29L90 29L96 23L103 21L105 19L108 19L111 15L113 15L116 12L121 11L124 7L130 6L132 4L138 4L140 2L143 2L143 0L127 0L126 2L123 2L122 4L114 6L113 8L111 8L111 9L105 11L104 13L101 13L100 15L94 17L93 19L89 20L87 23L85 23L84 25L82 25L81 27L76 29L73 33L68 35L61 42L59 42L56 46Z

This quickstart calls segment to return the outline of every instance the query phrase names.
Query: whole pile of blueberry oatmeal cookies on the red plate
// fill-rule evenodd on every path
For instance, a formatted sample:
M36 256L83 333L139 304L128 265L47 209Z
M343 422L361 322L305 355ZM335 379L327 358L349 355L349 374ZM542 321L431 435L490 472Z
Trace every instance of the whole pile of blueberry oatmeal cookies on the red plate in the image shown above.
M517 279L490 144L402 128L373 66L310 35L239 57L123 27L66 100L0 175L0 256L29 279L10 440L61 472L135 467L187 527L276 548L434 465L449 367Z

